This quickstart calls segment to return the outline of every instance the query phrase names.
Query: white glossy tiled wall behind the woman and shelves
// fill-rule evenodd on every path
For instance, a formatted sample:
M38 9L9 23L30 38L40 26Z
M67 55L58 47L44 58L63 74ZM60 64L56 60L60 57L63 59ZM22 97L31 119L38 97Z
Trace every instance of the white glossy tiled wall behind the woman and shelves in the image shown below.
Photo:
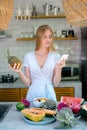
M19 57L22 61L26 52L33 50L35 47L35 41L16 41L16 38L20 36L21 32L33 33L35 27L38 27L42 24L49 24L54 32L56 30L68 29L69 25L65 18L62 19L30 19L30 20L17 20L15 19L18 5L21 5L22 8L25 7L25 0L14 0L14 13L12 20L6 30L6 35L11 36L12 38L0 39L0 75L13 73L7 64L7 53L6 50L9 48L10 53ZM24 2L24 3L23 3ZM43 14L43 5L45 3L52 4L54 6L60 7L60 12L63 12L61 0L26 0L27 5L29 5L30 9L32 8L32 3L36 5L37 13ZM57 47L58 53L61 55L64 53L68 53L69 60L80 60L80 28L72 27L75 31L75 35L79 37L78 40L72 41L54 41L55 46ZM15 74L15 73L14 73ZM15 74L16 75L16 74Z

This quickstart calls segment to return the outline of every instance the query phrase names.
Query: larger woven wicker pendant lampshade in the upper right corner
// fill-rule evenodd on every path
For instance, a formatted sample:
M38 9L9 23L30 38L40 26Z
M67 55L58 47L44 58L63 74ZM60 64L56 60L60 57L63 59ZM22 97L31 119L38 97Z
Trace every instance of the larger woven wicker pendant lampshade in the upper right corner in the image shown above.
M87 0L62 0L62 5L70 25L87 26Z

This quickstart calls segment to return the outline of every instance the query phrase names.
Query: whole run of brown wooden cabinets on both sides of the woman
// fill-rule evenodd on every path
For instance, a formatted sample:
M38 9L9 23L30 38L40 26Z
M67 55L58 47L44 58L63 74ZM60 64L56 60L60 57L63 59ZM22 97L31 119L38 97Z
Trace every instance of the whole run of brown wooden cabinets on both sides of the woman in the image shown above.
M0 88L0 102L18 102L26 98L28 88ZM61 96L74 96L74 87L54 87L57 100Z

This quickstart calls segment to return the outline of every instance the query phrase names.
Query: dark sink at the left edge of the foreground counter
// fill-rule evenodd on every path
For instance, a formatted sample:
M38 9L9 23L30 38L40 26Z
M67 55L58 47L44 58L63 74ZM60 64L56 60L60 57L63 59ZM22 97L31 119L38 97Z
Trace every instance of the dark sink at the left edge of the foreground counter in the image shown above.
M4 119L12 104L0 104L0 122Z

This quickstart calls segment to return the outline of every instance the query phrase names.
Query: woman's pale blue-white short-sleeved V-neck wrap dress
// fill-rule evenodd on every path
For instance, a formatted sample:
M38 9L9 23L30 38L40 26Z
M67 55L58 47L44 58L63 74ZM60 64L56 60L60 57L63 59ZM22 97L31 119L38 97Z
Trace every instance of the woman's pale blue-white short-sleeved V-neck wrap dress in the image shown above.
M47 97L56 101L55 92L52 84L52 76L55 64L60 59L56 52L49 52L45 64L40 68L34 51L27 53L24 57L24 66L30 68L31 85L26 96L27 100L32 101L36 97Z

